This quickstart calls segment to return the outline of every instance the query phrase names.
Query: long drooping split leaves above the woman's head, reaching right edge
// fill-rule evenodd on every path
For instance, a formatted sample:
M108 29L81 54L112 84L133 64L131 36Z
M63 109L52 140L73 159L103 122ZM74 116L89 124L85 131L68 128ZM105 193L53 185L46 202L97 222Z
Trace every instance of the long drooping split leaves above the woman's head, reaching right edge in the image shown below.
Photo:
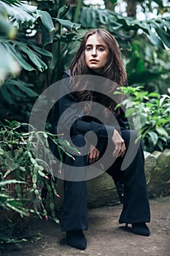
M66 18L73 20L75 9L75 7L70 8L69 12L66 13ZM111 10L82 7L76 22L80 23L83 29L104 27L115 35L123 48L131 48L131 39L136 36L139 29L147 35L152 45L165 48L165 44L168 48L170 47L169 15L165 17L161 15L161 17L150 20L136 20Z

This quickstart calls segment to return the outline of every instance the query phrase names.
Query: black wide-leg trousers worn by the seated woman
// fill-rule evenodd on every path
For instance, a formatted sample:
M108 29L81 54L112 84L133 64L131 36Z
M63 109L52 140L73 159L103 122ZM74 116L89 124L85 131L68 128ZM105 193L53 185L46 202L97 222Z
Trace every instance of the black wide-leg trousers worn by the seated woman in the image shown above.
M124 184L123 211L120 214L119 222L150 222L150 205L144 175L144 154L142 146L140 142L135 143L135 131L123 130L121 135L123 140L125 140L125 157L117 158L107 170L107 173L114 180L121 181ZM81 134L74 135L72 142L78 147L85 146L85 137ZM87 147L89 146L88 143L86 145ZM101 141L101 147L104 147L104 145L106 146L106 143L104 144L104 141ZM113 149L112 147L112 151ZM112 152L110 156L112 157ZM67 177L67 180L63 181L64 202L61 214L61 230L87 230L88 207L85 181L87 155L82 154L82 157L75 157L75 160L66 157L66 165L65 173L69 175L69 178ZM74 181L74 176L77 176L79 166L81 167L80 181ZM76 167L76 173L74 173L74 167Z

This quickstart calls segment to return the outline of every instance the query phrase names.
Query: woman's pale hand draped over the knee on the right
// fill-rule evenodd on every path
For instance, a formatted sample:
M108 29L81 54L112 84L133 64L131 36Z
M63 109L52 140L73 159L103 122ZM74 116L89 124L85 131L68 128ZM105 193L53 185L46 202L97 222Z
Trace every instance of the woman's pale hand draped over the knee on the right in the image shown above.
M112 143L115 145L115 150L112 153L113 157L123 157L125 154L125 142L116 129L112 135Z

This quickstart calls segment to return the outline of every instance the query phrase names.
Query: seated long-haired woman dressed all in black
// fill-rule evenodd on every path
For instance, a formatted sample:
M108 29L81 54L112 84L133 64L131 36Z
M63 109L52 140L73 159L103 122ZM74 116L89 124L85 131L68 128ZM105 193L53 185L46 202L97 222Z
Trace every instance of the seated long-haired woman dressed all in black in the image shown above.
M71 83L72 78L77 78L77 75L89 75L90 77L93 75L94 80L87 79L82 83L80 78L72 83L74 90L70 92L68 84L64 83L64 78L69 78L70 75ZM98 80L96 75L101 80ZM116 39L104 29L88 31L82 39L69 72L64 72L62 79L61 91L64 91L64 96L61 97L55 108L58 131L65 135L69 133L74 146L84 149L86 146L86 150L88 148L88 154L87 151L86 153L82 151L82 156L74 156L74 160L68 156L65 159L66 166L69 167L66 167L65 170L61 230L66 231L67 243L77 249L86 247L83 230L88 229L85 181L87 173L84 170L87 165L97 163L107 148L109 148L108 159L114 159L112 165L107 168L107 173L114 180L124 184L123 211L120 214L119 222L126 223L126 225L131 223L134 233L149 236L150 230L145 222L150 222L150 206L144 176L142 146L139 144L136 148L134 143L136 132L126 128L123 110L115 108L117 102L112 99L115 89L125 86L127 80ZM112 86L110 84L107 86L107 82L104 83L103 79L112 80ZM98 91L99 88L102 88L103 93L102 90ZM117 99L118 102L120 100L120 98ZM78 105L80 102L83 103L81 105L84 106L83 109ZM93 102L97 102L98 105ZM101 105L105 108L100 109ZM61 115L62 121L58 121ZM115 116L115 124L110 115ZM104 116L105 125L100 121L100 116ZM71 129L68 130L68 127ZM97 143L93 143L93 136L90 137L89 134L87 140L85 139L85 135L90 131L96 133ZM129 143L133 136L134 140L130 148ZM128 150L133 152L134 159L122 171L121 165ZM107 165L107 161L105 164ZM79 167L81 167L81 171L77 178L77 172L75 174L74 170Z

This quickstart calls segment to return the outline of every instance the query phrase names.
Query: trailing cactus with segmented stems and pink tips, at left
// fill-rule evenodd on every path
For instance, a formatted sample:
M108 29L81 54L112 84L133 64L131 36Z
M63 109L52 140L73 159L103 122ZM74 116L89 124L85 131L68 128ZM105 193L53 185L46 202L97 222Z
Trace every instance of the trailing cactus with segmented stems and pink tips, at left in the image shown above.
M45 186L49 193L48 203L50 206L50 216L58 222L55 217L54 201L55 196L59 197L56 189L56 179L53 176L53 167L56 167L56 159L50 150L49 140L55 143L60 151L76 151L77 149L69 146L66 140L60 140L50 132L38 132L34 127L28 131L28 124L21 124L18 121L7 121L1 123L0 130L0 169L3 173L1 181L7 183L7 178L18 181L15 184L15 200L21 200L23 207L28 213L34 212L39 217L48 218L47 208L43 201L39 187ZM34 156L34 145L39 151L39 159ZM41 159L40 159L41 158ZM43 160L44 159L44 160ZM58 166L61 169L61 165ZM26 185L23 186L24 182ZM42 207L39 212L37 201Z

